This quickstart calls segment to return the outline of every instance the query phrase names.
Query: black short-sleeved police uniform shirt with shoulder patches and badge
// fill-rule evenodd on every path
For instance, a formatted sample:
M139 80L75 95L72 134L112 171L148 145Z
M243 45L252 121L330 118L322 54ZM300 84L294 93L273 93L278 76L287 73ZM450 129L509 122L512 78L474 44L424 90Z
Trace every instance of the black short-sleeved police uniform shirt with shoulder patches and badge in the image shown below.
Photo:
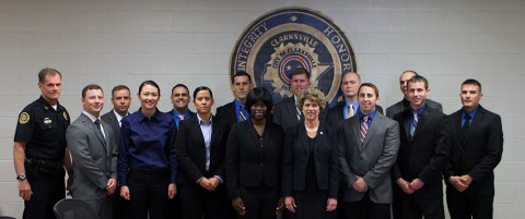
M62 160L69 124L70 117L66 108L57 102L55 110L40 96L20 113L14 142L25 143L27 158Z

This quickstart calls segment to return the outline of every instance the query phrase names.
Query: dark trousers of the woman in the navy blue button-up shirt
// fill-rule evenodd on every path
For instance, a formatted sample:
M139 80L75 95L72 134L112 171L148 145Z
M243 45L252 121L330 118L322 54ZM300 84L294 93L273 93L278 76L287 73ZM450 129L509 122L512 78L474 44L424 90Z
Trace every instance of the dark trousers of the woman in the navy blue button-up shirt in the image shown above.
M168 171L135 171L128 173L129 202L125 204L124 218L167 218Z

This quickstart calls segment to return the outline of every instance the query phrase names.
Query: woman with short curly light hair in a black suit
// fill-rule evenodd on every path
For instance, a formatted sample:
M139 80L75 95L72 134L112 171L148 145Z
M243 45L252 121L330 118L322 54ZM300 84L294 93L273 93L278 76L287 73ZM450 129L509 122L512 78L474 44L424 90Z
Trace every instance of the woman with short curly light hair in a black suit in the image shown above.
M330 218L337 207L337 145L319 121L325 95L307 88L299 99L304 122L287 130L283 146L282 193L296 219Z

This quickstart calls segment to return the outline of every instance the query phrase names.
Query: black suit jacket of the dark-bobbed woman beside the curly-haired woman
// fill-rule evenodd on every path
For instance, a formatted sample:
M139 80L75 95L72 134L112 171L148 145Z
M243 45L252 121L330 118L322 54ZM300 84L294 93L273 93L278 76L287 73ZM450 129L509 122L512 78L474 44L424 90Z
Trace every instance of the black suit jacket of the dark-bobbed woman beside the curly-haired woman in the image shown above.
M284 132L268 120L262 143L252 120L235 123L228 137L226 177L231 198L241 196L241 186L280 185Z

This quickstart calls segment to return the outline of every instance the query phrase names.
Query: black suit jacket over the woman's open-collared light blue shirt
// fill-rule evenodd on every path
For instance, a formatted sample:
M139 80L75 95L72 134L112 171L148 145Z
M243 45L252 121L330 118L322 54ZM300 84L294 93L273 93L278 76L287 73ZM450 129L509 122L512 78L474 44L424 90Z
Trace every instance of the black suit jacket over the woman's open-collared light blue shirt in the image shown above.
M197 117L180 121L175 143L180 173L178 182L182 184L196 184L205 177L219 175L225 180L224 156L229 129L225 122L212 115L210 167L206 171L206 144Z

